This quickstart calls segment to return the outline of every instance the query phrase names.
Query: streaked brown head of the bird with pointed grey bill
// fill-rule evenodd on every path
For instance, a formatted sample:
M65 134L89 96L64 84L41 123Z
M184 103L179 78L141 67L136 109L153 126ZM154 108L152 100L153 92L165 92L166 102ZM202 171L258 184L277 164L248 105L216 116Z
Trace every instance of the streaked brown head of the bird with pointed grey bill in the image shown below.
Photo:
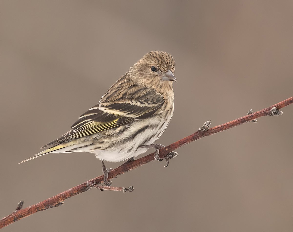
M176 81L173 73L175 61L164 51L150 51L130 68L130 73L142 84L147 86L172 85Z

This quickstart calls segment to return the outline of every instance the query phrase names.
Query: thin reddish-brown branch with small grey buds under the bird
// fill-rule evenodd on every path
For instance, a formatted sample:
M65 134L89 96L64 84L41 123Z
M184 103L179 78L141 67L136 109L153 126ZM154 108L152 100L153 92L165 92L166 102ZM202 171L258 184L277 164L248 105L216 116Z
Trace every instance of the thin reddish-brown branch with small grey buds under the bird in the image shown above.
M243 117L238 118L236 120L230 121L228 123L224 123L219 126L215 126L213 128L210 128L207 131L205 131L205 129L203 129L203 128L200 128L199 130L197 130L197 132L193 133L192 135L189 135L181 140L178 140L177 142L174 142L167 147L161 148L159 156L160 156L160 158L166 158L167 154L169 154L170 152L174 151L175 149L177 149L179 147L185 146L186 144L188 144L190 142L193 142L195 140L198 140L200 138L215 134L215 133L223 131L223 130L227 130L229 128L233 128L233 127L241 125L243 123L253 121L256 118L260 118L262 116L271 116L271 115L278 116L278 115L282 114L282 112L279 111L279 109L281 109L289 104L292 104L292 103L293 103L293 97L290 97L282 102L279 102L273 106L270 106L266 109L257 111L255 113L252 113L252 111L249 111L248 115L246 115L246 116L243 116ZM127 171L135 169L143 164L147 164L150 161L153 161L154 159L155 159L154 153L151 153L151 154L144 156L140 159L137 159L137 160L134 160L131 162L126 162L126 163L122 164L121 166L117 167L116 169L114 169L113 171L110 171L108 174L108 179L112 179L112 178L119 176ZM29 206L25 209L16 209L14 212L12 212L8 216L6 216L0 220L0 229L3 228L4 226L7 226L7 225L15 222L15 221L18 221L24 217L30 216L36 212L62 205L64 200L66 200L70 197L73 197L79 193L86 192L87 190L93 188L94 185L103 183L103 178L104 178L104 176L98 176L92 180L89 180L85 183L77 185L69 190L66 190L62 193L59 193L58 195L50 197L42 202L39 202L39 203L34 204L32 206ZM100 189L101 189L101 187L100 187ZM115 190L121 191L123 189L124 188L116 188ZM108 190L114 190L114 189L108 189ZM21 207L18 207L18 208L21 208Z

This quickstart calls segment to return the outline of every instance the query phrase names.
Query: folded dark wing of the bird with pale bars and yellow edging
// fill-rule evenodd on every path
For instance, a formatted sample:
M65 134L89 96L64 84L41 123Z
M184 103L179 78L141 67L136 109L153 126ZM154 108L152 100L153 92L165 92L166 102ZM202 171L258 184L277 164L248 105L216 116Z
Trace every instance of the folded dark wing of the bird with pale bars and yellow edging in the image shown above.
M151 97L136 100L117 99L114 102L100 102L79 117L71 130L42 148L61 142L98 133L135 120L142 120L154 114L164 103L163 98L149 90Z

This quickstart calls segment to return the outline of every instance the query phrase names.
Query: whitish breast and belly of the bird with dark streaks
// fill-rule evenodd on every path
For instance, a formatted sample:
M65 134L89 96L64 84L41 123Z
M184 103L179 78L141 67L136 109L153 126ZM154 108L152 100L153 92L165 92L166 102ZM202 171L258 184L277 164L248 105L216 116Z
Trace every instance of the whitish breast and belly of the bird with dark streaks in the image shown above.
M141 145L154 144L160 138L172 116L173 104L164 104L160 114L120 126L118 130L108 130L99 139L102 149L94 151L96 157L110 162L137 157L147 151Z

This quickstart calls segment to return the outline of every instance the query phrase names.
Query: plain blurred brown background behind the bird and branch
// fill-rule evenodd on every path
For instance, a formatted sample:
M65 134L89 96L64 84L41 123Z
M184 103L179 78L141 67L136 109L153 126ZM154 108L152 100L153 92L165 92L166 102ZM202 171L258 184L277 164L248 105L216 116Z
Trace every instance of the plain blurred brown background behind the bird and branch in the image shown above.
M99 176L89 153L16 165L151 50L176 61L169 145L293 95L292 1L1 1L0 218ZM3 231L293 231L292 115L259 118ZM150 152L153 152L151 150ZM115 168L119 163L107 163Z

